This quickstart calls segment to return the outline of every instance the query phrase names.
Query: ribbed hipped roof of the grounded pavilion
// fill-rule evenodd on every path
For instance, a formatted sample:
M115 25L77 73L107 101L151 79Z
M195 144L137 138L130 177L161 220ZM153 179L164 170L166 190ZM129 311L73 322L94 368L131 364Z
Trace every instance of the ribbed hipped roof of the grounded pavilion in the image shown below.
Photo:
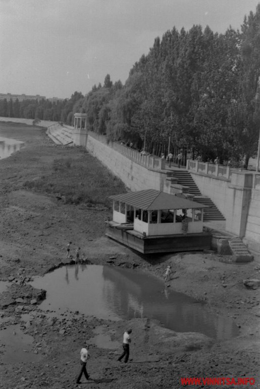
M147 211L207 208L204 204L196 203L155 189L138 190L136 192L124 193L123 195L110 196L109 198Z

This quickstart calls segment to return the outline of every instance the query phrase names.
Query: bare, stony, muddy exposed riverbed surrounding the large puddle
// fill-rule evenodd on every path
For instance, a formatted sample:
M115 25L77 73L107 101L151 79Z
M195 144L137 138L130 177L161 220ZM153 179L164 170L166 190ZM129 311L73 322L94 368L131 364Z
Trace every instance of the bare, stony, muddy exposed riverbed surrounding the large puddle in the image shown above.
M178 388L181 377L254 377L259 385L259 289L249 290L243 279L260 278L259 261L237 265L214 252L143 257L105 237L106 207L64 204L56 196L32 192L24 182L38 179L54 159L77 158L79 148L56 146L45 132L27 126L0 125L0 135L25 142L22 150L0 161L0 279L8 288L0 294L0 329L20 325L33 336L34 361L3 362L7 352L0 340L1 388L73 388L82 343L93 330L121 343L132 327L128 364L117 362L121 348L90 346L88 388ZM100 167L101 168L101 167ZM66 263L72 241L88 263L143 269L163 278L166 265L175 271L169 288L203 301L209 312L234 319L239 336L220 341L196 333L176 333L147 319L112 322L77 312L54 319L40 309L44 293L29 282ZM85 298L81 296L81 298ZM33 320L24 319L31 314ZM54 313L55 316L55 313ZM0 333L1 334L1 333ZM3 332L2 332L3 334ZM10 335L16 336L15 331ZM200 385L203 387L203 385ZM248 385L250 386L250 385ZM248 387L223 385L223 387ZM198 386L197 386L198 387ZM204 386L207 387L207 386Z

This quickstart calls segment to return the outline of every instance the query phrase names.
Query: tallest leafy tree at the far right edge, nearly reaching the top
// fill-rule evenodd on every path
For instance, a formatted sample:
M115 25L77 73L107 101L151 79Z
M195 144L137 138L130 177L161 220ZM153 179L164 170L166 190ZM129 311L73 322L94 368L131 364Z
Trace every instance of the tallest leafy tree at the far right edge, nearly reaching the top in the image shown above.
M236 158L245 155L247 167L250 156L257 148L260 126L260 107L255 95L260 76L260 4L256 13L250 12L241 27L236 90L229 108L229 127L234 138Z

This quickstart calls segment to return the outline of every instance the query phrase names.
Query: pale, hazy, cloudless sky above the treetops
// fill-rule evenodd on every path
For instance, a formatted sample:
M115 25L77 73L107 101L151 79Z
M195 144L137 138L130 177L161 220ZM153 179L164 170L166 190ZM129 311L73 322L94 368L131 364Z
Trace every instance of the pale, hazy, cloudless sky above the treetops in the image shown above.
M124 84L174 26L240 29L259 0L0 0L0 93L70 98Z

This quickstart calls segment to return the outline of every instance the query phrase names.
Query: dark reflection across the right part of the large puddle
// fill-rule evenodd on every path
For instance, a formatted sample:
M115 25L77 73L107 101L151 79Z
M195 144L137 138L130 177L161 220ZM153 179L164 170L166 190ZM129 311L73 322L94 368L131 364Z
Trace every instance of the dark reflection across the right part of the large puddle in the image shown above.
M207 312L189 296L169 292L167 298L164 284L155 277L110 266L103 266L102 275L103 297L112 312L123 318L156 319L178 332L201 332L219 339L238 334L232 320Z

